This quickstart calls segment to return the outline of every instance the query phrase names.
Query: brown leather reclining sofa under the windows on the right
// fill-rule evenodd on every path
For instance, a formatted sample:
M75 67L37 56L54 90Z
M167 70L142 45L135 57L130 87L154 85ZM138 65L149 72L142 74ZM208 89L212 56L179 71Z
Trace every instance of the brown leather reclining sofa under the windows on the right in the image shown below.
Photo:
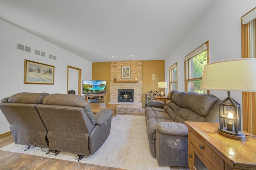
M148 101L146 132L159 165L188 166L188 128L184 122L219 122L219 102L212 94L179 91L170 91L165 103Z

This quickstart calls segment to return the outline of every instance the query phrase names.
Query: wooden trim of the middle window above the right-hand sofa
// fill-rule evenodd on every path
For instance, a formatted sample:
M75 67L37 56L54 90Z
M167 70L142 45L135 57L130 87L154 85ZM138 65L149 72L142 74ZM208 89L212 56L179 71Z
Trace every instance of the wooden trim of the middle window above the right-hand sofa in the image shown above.
M204 50L206 50L207 52L207 64L209 63L209 41L206 41L204 44L202 44L201 46L199 46L198 48L196 48L196 50L190 52L188 55L186 55L184 57L184 82L185 82L185 92L188 92L188 82L189 81L193 81L193 80L202 80L201 78L191 78L189 79L189 64L188 61L190 58L193 58L194 56L196 56L197 54L200 54L201 52L203 52ZM209 94L210 90L206 90L206 93Z

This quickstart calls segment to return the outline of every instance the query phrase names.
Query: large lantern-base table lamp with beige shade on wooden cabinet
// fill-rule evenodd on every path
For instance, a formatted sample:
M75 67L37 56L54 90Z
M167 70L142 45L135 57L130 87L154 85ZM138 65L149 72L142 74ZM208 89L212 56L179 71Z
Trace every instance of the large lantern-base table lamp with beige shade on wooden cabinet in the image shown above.
M255 74L255 58L224 60L204 66L201 89L228 91L228 97L219 103L219 134L245 140L241 131L240 104L230 97L230 91L256 92Z

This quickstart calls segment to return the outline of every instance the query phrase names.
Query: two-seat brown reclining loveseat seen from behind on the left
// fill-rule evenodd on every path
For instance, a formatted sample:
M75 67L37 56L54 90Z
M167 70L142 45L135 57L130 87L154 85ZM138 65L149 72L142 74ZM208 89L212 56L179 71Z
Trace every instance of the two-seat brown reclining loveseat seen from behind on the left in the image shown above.
M15 144L90 156L110 134L112 110L94 115L80 95L23 92L1 102Z

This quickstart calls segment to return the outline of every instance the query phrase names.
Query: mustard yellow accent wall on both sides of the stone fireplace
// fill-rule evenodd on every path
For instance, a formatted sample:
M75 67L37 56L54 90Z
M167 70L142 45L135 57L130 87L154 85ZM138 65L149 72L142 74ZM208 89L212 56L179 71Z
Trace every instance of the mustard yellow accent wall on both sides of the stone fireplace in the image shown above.
M152 74L156 74L156 80L151 79ZM150 92L150 90L160 91L161 89L157 88L157 84L164 82L164 78L164 60L142 61L142 107L145 107L146 92ZM110 62L92 63L92 80L107 81L104 103L110 102Z

